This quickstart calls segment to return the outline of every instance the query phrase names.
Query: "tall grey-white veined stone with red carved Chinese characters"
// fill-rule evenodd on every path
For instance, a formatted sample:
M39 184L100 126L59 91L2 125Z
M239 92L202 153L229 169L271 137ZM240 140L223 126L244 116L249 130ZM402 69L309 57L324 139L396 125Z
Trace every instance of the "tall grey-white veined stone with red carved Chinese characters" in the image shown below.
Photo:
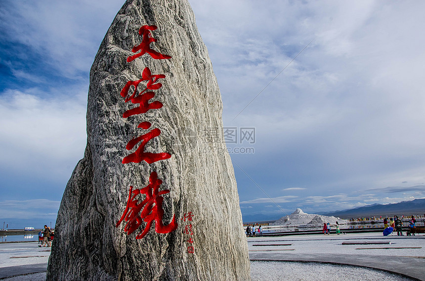
M221 112L187 0L127 0L90 70L47 280L250 280Z

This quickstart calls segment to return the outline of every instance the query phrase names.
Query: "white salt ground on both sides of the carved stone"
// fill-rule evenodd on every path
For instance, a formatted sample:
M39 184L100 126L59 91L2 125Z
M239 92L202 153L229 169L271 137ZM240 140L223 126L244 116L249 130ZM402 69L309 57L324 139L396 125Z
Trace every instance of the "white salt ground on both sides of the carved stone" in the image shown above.
M386 264L385 258L394 262L400 259L398 272L408 274L411 270L423 270L425 268L425 236L386 236L381 233L362 233L346 235L292 235L281 237L249 237L247 238L250 258L269 257L271 260L279 259L279 256L290 260L300 257L320 256L326 260L336 256L344 256L347 259L342 263L349 263L351 258L362 258L374 261L367 266L375 267L375 263ZM342 245L342 242L390 242L384 245ZM269 244L291 244L289 246L265 246ZM262 246L254 246L262 245ZM384 249L385 247L397 247ZM411 248L421 247L421 248ZM359 249L362 248L362 249ZM378 249L372 249L378 248ZM29 266L45 264L48 262L50 248L40 248L38 243L8 243L0 244L0 273L2 268L11 266ZM295 257L291 259L290 257ZM313 258L314 259L314 258ZM402 260L403 259L403 260ZM419 266L409 268L403 264L406 259L416 261ZM275 259L276 260L276 259ZM424 266L422 266L422 263ZM392 263L394 264L394 263ZM416 263L415 263L416 264ZM404 267L406 266L405 271ZM390 266L391 267L391 266ZM421 267L421 268L419 268ZM395 271L397 272L397 271ZM16 272L16 275L19 275ZM251 261L252 280L270 281L337 281L337 280L411 280L399 275L391 274L382 270L374 270L366 267L346 266L335 264L311 263L311 262L288 262L288 261ZM417 280L425 280L417 278ZM1 278L1 277L0 277ZM45 280L45 273L6 278L8 281Z

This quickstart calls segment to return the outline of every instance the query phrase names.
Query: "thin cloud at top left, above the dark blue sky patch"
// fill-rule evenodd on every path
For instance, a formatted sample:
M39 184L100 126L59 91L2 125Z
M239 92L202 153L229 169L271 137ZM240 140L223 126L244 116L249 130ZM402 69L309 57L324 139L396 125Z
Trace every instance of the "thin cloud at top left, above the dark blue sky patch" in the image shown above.
M116 0L6 2L1 14L2 30L12 41L47 56L46 63L67 77L88 72L123 4Z

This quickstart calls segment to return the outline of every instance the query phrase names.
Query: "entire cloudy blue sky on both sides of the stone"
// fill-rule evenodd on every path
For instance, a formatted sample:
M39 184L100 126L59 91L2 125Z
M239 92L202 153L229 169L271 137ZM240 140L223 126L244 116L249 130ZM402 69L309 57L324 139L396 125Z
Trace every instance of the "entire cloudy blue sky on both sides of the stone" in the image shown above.
M424 1L189 2L244 217L425 198ZM0 2L8 228L54 225L84 156L89 70L123 4Z

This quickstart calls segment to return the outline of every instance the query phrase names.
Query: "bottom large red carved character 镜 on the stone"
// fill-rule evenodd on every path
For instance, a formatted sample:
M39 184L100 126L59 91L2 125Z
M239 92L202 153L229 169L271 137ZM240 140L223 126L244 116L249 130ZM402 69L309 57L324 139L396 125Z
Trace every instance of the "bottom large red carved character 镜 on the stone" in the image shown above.
M145 237L154 221L155 232L157 233L164 234L176 230L177 223L175 222L175 214L173 215L172 220L168 225L163 225L162 222L164 215L164 210L162 209L164 198L162 195L170 193L170 190L165 189L159 191L161 183L162 180L158 178L157 173L152 172L149 176L148 186L143 187L142 189L134 190L132 190L133 187L130 186L126 210L124 210L123 216L117 222L116 227L118 227L123 220L127 221L124 231L127 232L127 235L130 235L142 224L143 220L146 222L145 229L136 236L136 239L142 239ZM141 203L138 203L138 200L134 199L139 194L146 195L145 200L143 200ZM140 210L142 210L141 213Z

